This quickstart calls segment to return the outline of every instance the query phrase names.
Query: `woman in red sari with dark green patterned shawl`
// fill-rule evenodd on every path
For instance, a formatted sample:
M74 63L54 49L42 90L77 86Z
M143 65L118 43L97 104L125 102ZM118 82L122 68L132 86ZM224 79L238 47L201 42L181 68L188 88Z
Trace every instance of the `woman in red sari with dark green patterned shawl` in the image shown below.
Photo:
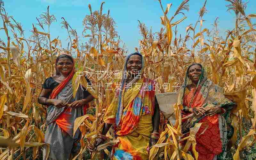
M235 103L225 98L220 86L207 79L201 64L194 63L188 67L178 102L184 106L183 133L188 133L195 123L203 123L196 134L198 160L224 158L233 129L228 115Z

